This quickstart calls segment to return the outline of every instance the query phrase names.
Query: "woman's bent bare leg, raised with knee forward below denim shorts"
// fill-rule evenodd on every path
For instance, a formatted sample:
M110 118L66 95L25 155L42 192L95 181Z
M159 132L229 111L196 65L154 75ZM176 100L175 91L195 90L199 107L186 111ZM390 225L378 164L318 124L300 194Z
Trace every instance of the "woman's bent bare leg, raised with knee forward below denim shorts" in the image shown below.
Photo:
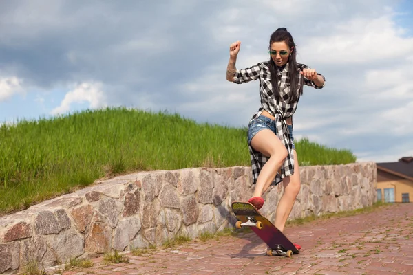
M268 161L260 171L253 193L253 197L261 197L263 191L271 186L271 183L273 182L275 175L277 175L277 171L284 163L288 152L277 135L268 129L258 132L251 140L251 146L254 150L269 157Z

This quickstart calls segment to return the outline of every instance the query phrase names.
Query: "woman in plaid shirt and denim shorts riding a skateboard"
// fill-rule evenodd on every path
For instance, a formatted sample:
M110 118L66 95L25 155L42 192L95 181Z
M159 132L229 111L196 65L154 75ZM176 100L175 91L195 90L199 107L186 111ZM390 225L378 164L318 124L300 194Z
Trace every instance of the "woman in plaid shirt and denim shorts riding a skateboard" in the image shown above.
M261 106L248 123L253 197L248 200L262 208L262 195L271 184L284 185L284 194L275 212L274 225L281 231L300 190L299 166L293 139L292 115L303 92L303 85L321 89L325 78L315 69L296 61L297 51L291 34L279 28L271 34L268 61L247 69L236 69L241 42L230 45L226 79L237 84L260 80ZM297 245L299 247L299 245Z

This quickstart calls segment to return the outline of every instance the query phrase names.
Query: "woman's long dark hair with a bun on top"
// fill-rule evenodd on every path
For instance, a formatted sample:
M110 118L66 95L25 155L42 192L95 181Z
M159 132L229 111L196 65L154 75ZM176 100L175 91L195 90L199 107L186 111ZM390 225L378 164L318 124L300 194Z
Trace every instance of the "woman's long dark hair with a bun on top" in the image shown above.
M288 47L291 49L291 47L294 47L293 52L291 52L290 56L288 56L288 66L289 66L289 78L290 78L290 98L289 98L289 102L293 103L293 102L297 102L299 100L299 96L302 94L302 89L301 91L297 91L298 88L298 80L299 78L299 71L297 71L298 69L298 65L297 65L297 60L296 60L296 56L297 56L297 51L295 48L295 43L294 43L294 39L293 36L291 36L290 32L287 31L286 28L278 28L277 30L275 30L275 32L273 32L273 34L271 34L271 38L270 38L270 45L268 46L268 50L271 50L271 44L273 42L282 42L284 41ZM277 65L275 65L273 58L271 58L270 56L270 73L271 73L271 85L273 86L273 93L275 96L275 99L277 101L280 100L279 97L279 87L278 87L278 81L279 81L279 76L277 74L277 72L279 71L279 67ZM302 83L301 83L302 86Z

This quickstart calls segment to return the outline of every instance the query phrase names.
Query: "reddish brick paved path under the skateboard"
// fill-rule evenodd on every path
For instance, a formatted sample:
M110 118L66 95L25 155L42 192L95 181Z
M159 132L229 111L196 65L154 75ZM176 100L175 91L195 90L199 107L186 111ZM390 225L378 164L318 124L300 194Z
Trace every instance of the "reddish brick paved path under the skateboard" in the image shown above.
M266 256L266 245L248 233L126 254L127 264L94 259L88 270L63 274L413 274L413 203L296 225L286 234L302 245L293 259Z

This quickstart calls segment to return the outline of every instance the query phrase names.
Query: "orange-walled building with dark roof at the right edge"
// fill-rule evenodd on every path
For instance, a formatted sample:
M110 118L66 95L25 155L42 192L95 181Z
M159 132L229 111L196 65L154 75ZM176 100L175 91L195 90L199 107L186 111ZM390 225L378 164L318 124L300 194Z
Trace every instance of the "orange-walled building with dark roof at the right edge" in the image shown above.
M413 201L413 157L402 157L399 162L377 163L377 201Z

